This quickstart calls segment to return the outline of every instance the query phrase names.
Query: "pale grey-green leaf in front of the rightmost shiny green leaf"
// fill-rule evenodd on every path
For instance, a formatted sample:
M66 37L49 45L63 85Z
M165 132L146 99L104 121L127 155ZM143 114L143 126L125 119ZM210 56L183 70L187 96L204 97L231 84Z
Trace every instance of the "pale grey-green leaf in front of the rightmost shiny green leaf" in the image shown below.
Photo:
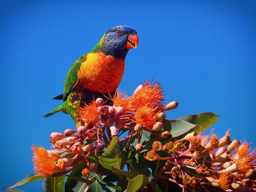
M192 124L184 120L166 120L163 121L164 130L171 132L172 137L178 137L194 129L198 124Z

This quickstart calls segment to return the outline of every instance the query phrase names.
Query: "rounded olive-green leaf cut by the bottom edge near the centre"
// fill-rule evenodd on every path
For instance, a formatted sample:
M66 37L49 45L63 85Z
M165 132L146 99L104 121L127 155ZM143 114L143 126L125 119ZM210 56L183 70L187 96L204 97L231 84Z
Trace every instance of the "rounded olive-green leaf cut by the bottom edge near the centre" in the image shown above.
M138 175L129 181L127 192L135 192L139 188L145 187L148 184L148 177L146 175Z

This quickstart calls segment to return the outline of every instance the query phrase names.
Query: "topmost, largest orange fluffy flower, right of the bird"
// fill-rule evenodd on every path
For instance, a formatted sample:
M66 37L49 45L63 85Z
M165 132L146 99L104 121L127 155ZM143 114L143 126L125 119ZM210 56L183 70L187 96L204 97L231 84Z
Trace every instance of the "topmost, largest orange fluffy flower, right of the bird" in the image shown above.
M137 109L144 107L145 105L153 105L157 107L157 110L164 108L164 94L163 88L160 83L156 82L153 85L149 83L149 80L145 81L145 86L138 90L136 94L132 96L131 105Z

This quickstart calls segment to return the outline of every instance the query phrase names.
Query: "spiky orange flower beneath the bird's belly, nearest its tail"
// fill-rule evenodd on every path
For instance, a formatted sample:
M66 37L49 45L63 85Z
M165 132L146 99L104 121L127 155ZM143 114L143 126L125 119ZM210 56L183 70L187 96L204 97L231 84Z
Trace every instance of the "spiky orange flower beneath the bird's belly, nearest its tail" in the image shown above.
M100 114L97 111L97 105L95 101L89 104L84 103L84 107L77 108L78 117L77 120L91 122L98 122Z

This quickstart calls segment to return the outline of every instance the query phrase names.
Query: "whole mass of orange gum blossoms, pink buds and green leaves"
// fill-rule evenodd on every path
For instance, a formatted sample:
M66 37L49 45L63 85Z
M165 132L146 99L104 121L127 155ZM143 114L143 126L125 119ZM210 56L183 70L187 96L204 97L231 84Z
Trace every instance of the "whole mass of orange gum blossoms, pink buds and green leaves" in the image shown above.
M228 131L221 139L212 132L202 134L217 115L205 112L167 120L164 111L178 103L164 106L158 82L145 81L132 97L117 92L109 99L114 106L102 106L98 98L79 108L77 129L53 132L56 149L34 145L36 174L6 190L20 191L13 188L39 179L44 191L56 192L255 189L255 150L246 141L231 142ZM96 115L89 120L84 114L91 112Z

